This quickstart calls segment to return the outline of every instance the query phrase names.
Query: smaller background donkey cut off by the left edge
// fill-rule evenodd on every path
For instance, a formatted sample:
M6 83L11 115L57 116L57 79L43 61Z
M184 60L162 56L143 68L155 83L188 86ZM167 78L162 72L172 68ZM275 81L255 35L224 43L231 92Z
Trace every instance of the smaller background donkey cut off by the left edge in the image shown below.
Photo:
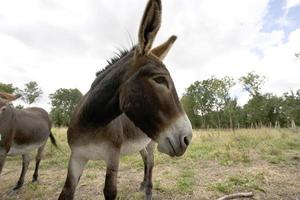
M23 158L21 176L14 190L21 188L24 183L30 152L38 149L32 179L35 182L38 179L42 152L49 136L52 144L57 147L51 133L51 121L45 110L41 108L17 110L8 105L19 97L0 92L0 174L6 156L21 154Z

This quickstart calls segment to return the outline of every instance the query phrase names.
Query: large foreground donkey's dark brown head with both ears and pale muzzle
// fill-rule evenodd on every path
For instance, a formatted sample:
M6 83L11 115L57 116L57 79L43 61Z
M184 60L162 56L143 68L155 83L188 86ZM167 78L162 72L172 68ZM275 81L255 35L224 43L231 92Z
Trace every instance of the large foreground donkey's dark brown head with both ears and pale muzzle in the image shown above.
M139 29L139 43L120 89L120 109L158 142L159 151L181 156L192 139L192 127L162 62L176 36L152 49L160 24L161 1L149 0Z

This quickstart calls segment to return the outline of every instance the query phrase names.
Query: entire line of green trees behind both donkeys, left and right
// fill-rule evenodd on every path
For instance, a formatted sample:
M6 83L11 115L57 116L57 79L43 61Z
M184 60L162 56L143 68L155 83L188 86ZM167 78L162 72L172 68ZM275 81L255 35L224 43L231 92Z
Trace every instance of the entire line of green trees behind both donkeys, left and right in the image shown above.
M264 76L255 72L250 72L237 81L228 76L211 77L192 83L183 94L181 102L194 128L300 126L300 88L276 96L262 92L265 81ZM238 99L230 94L236 84L240 84L250 95L245 105L238 105ZM21 100L28 106L43 95L35 81L26 83L23 88L0 82L0 91L21 94ZM68 126L81 97L82 93L76 88L60 88L50 94L50 116L53 124ZM23 108L22 105L16 107Z

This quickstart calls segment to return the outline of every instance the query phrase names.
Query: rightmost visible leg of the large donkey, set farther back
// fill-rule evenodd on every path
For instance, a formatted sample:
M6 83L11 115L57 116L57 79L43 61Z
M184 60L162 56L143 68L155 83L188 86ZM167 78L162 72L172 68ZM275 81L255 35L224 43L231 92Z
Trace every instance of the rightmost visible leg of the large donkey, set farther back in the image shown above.
M147 147L140 151L144 161L144 180L141 183L140 190L145 190L146 200L152 199L152 170L154 166L154 142L151 141Z

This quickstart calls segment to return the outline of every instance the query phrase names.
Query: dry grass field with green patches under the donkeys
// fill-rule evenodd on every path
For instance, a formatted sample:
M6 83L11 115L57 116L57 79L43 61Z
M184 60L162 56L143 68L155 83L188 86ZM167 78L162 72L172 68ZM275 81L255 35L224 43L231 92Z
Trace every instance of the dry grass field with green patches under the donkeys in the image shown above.
M9 157L0 175L0 199L57 199L65 181L69 148L66 129L54 129L64 153L48 142L39 182L32 184L34 161L24 187L11 193L21 158ZM32 158L34 158L32 156ZM103 199L105 164L90 161L77 187L76 199ZM139 154L123 157L118 178L120 200L142 199ZM181 158L156 152L153 199L217 199L234 192L254 192L254 199L300 199L300 133L288 129L194 131L191 146Z

